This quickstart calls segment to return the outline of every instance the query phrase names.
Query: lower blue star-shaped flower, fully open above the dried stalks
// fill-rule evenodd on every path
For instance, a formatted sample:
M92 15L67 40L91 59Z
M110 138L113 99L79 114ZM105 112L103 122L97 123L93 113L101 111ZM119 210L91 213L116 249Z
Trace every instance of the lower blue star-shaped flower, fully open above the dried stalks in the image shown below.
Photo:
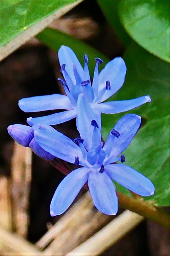
M125 162L124 155L118 156L128 147L140 123L140 116L127 114L116 123L103 145L98 123L92 120L90 150L84 146L86 137L72 141L55 129L48 129L47 125L34 131L37 143L45 151L75 166L82 166L67 175L56 189L51 201L52 216L67 210L86 181L96 208L109 215L118 211L118 198L112 180L141 196L154 194L154 185L149 179L129 166L117 163Z

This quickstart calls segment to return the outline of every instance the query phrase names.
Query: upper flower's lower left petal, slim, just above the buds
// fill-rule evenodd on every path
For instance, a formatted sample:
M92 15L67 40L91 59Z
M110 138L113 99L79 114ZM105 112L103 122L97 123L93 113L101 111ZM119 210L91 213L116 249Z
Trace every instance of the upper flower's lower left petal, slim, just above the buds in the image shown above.
M66 121L71 120L72 118L76 117L77 111L76 109L67 110L55 114L50 114L48 116L41 116L41 117L29 117L27 119L27 123L29 125L34 125L36 123L43 123L46 125L57 125L58 123L63 123Z

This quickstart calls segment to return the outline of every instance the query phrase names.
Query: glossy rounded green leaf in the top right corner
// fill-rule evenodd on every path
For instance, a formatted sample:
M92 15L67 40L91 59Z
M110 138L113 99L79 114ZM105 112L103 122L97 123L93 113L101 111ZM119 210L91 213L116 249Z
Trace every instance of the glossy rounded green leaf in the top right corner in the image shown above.
M122 0L119 15L129 35L143 48L170 62L170 1Z

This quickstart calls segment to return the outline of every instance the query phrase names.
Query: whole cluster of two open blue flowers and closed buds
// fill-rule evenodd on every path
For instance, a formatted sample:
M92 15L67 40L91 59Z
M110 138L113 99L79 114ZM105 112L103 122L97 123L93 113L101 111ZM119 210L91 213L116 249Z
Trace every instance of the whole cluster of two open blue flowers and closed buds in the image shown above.
M110 61L100 73L98 67L103 61L96 58L92 84L86 54L84 68L67 46L61 46L58 57L64 77L58 78L58 81L66 95L24 98L19 100L19 107L25 112L66 111L29 117L27 122L30 126L10 125L8 132L19 144L30 147L38 156L49 161L60 158L76 166L56 189L51 202L51 216L65 212L86 182L96 208L105 214L115 215L118 199L113 181L141 196L154 194L154 185L140 172L124 165L126 160L121 154L137 133L141 117L136 114L123 116L103 143L101 113L128 111L151 99L142 96L132 100L104 102L123 85L126 65L121 57ZM71 140L51 127L75 117L80 138Z

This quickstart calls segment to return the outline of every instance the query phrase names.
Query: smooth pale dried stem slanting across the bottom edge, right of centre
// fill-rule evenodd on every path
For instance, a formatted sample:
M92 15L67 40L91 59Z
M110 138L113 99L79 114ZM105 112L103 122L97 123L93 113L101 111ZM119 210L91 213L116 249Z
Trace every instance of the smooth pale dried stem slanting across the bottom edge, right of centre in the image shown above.
M121 215L112 220L108 225L101 229L98 233L90 237L84 243L80 244L67 256L89 256L100 255L106 251L124 235L129 233L144 218L134 212L124 211Z

